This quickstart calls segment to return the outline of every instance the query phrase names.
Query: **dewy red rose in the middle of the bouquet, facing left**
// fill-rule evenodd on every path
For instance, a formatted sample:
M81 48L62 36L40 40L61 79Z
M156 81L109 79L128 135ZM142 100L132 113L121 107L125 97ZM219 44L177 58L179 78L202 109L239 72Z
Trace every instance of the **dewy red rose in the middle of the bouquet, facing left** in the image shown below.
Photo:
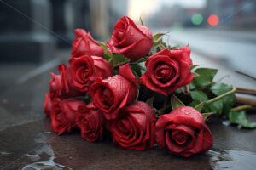
M90 86L90 96L106 119L115 119L119 110L136 98L137 86L119 75L104 80L97 77Z

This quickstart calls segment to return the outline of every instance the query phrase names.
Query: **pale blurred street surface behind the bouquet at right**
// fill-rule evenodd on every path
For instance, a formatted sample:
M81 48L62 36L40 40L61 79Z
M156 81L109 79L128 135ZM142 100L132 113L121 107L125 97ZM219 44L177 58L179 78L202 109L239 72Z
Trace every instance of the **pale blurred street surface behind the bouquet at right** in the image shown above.
M163 30L161 32L167 32ZM169 30L170 31L170 30ZM183 47L188 45L196 53L256 77L256 32L219 31L212 29L171 30L166 41Z

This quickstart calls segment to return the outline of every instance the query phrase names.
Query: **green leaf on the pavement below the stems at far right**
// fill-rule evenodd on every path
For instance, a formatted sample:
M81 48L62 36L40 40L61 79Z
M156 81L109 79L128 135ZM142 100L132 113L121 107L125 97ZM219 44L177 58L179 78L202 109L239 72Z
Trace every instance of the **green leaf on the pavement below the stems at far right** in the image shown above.
M229 119L231 123L240 124L243 127L255 128L256 122L249 122L245 111L230 111Z

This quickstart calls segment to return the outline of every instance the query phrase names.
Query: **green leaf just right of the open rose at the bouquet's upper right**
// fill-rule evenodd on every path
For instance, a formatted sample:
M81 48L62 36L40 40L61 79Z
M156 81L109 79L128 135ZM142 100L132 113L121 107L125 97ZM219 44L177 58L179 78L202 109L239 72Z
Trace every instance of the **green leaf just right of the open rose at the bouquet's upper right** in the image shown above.
M199 68L195 70L195 73L199 74L199 77L194 77L193 82L198 88L205 88L212 83L213 77L218 70L210 68Z

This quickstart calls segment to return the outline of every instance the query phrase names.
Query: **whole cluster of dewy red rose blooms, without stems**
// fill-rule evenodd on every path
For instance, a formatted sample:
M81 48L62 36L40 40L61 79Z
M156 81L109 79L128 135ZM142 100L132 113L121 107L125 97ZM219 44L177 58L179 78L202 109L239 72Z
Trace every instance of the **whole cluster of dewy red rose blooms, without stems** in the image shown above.
M79 128L83 139L95 142L108 131L121 148L146 150L157 142L160 149L186 157L212 147L212 134L199 111L177 107L157 120L152 105L137 100L140 87L168 96L193 80L189 47L152 54L151 31L126 16L116 23L106 46L83 29L75 34L71 59L68 65L59 65L59 75L50 73L45 94L44 112L55 133ZM126 62L113 65L115 54ZM145 59L141 77L131 69L139 59Z

